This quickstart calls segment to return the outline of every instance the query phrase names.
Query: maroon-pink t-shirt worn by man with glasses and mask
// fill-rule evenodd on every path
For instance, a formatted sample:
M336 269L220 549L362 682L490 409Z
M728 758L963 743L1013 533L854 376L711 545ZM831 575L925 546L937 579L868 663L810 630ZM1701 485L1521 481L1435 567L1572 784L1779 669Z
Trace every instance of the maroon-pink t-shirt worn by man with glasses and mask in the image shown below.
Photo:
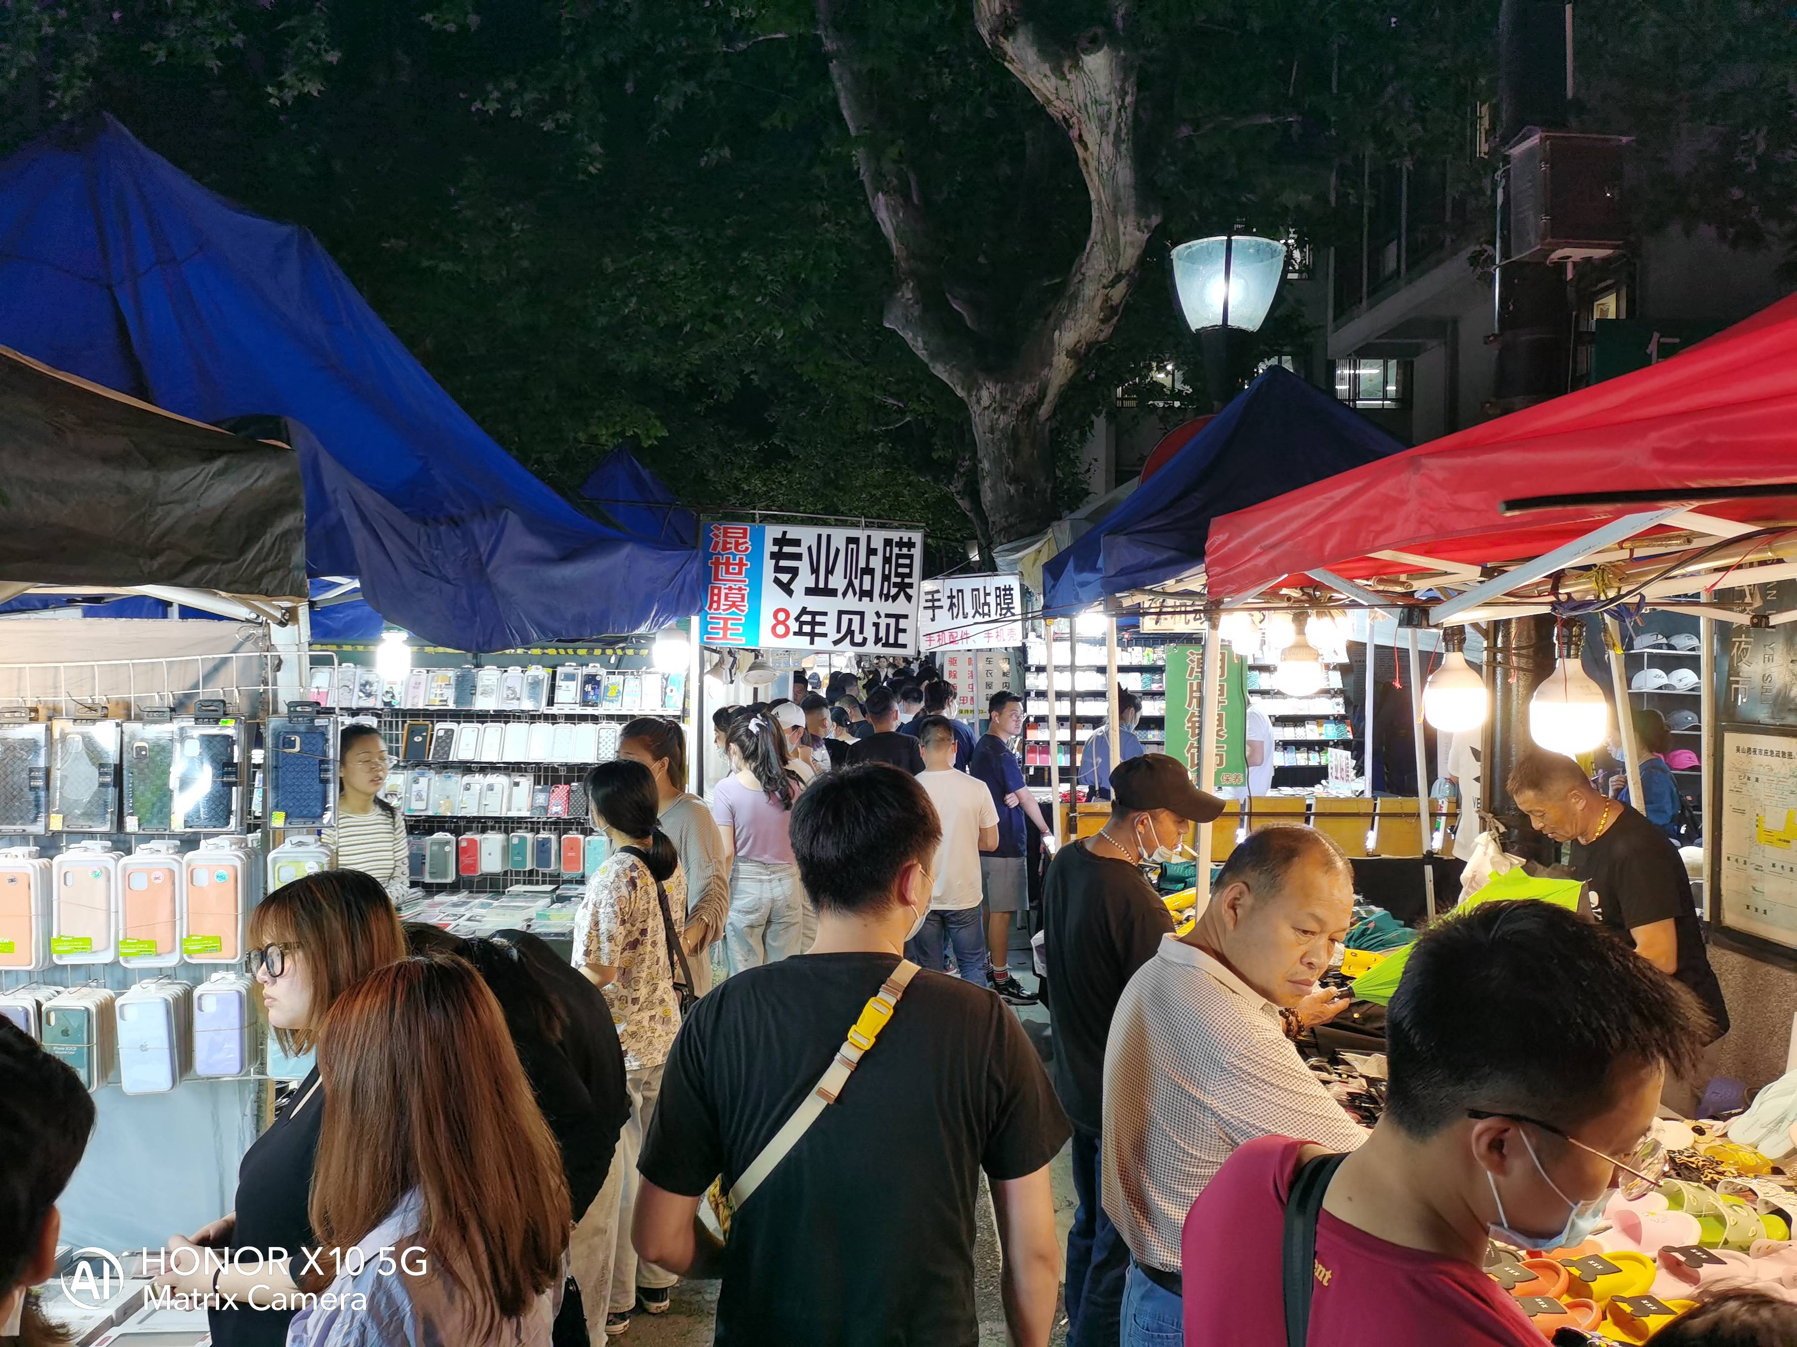
M1188 1343L1285 1347L1285 1194L1308 1142L1256 1137L1236 1148L1181 1239ZM1317 1216L1310 1342L1391 1347L1540 1347L1517 1302L1479 1268L1377 1239Z

